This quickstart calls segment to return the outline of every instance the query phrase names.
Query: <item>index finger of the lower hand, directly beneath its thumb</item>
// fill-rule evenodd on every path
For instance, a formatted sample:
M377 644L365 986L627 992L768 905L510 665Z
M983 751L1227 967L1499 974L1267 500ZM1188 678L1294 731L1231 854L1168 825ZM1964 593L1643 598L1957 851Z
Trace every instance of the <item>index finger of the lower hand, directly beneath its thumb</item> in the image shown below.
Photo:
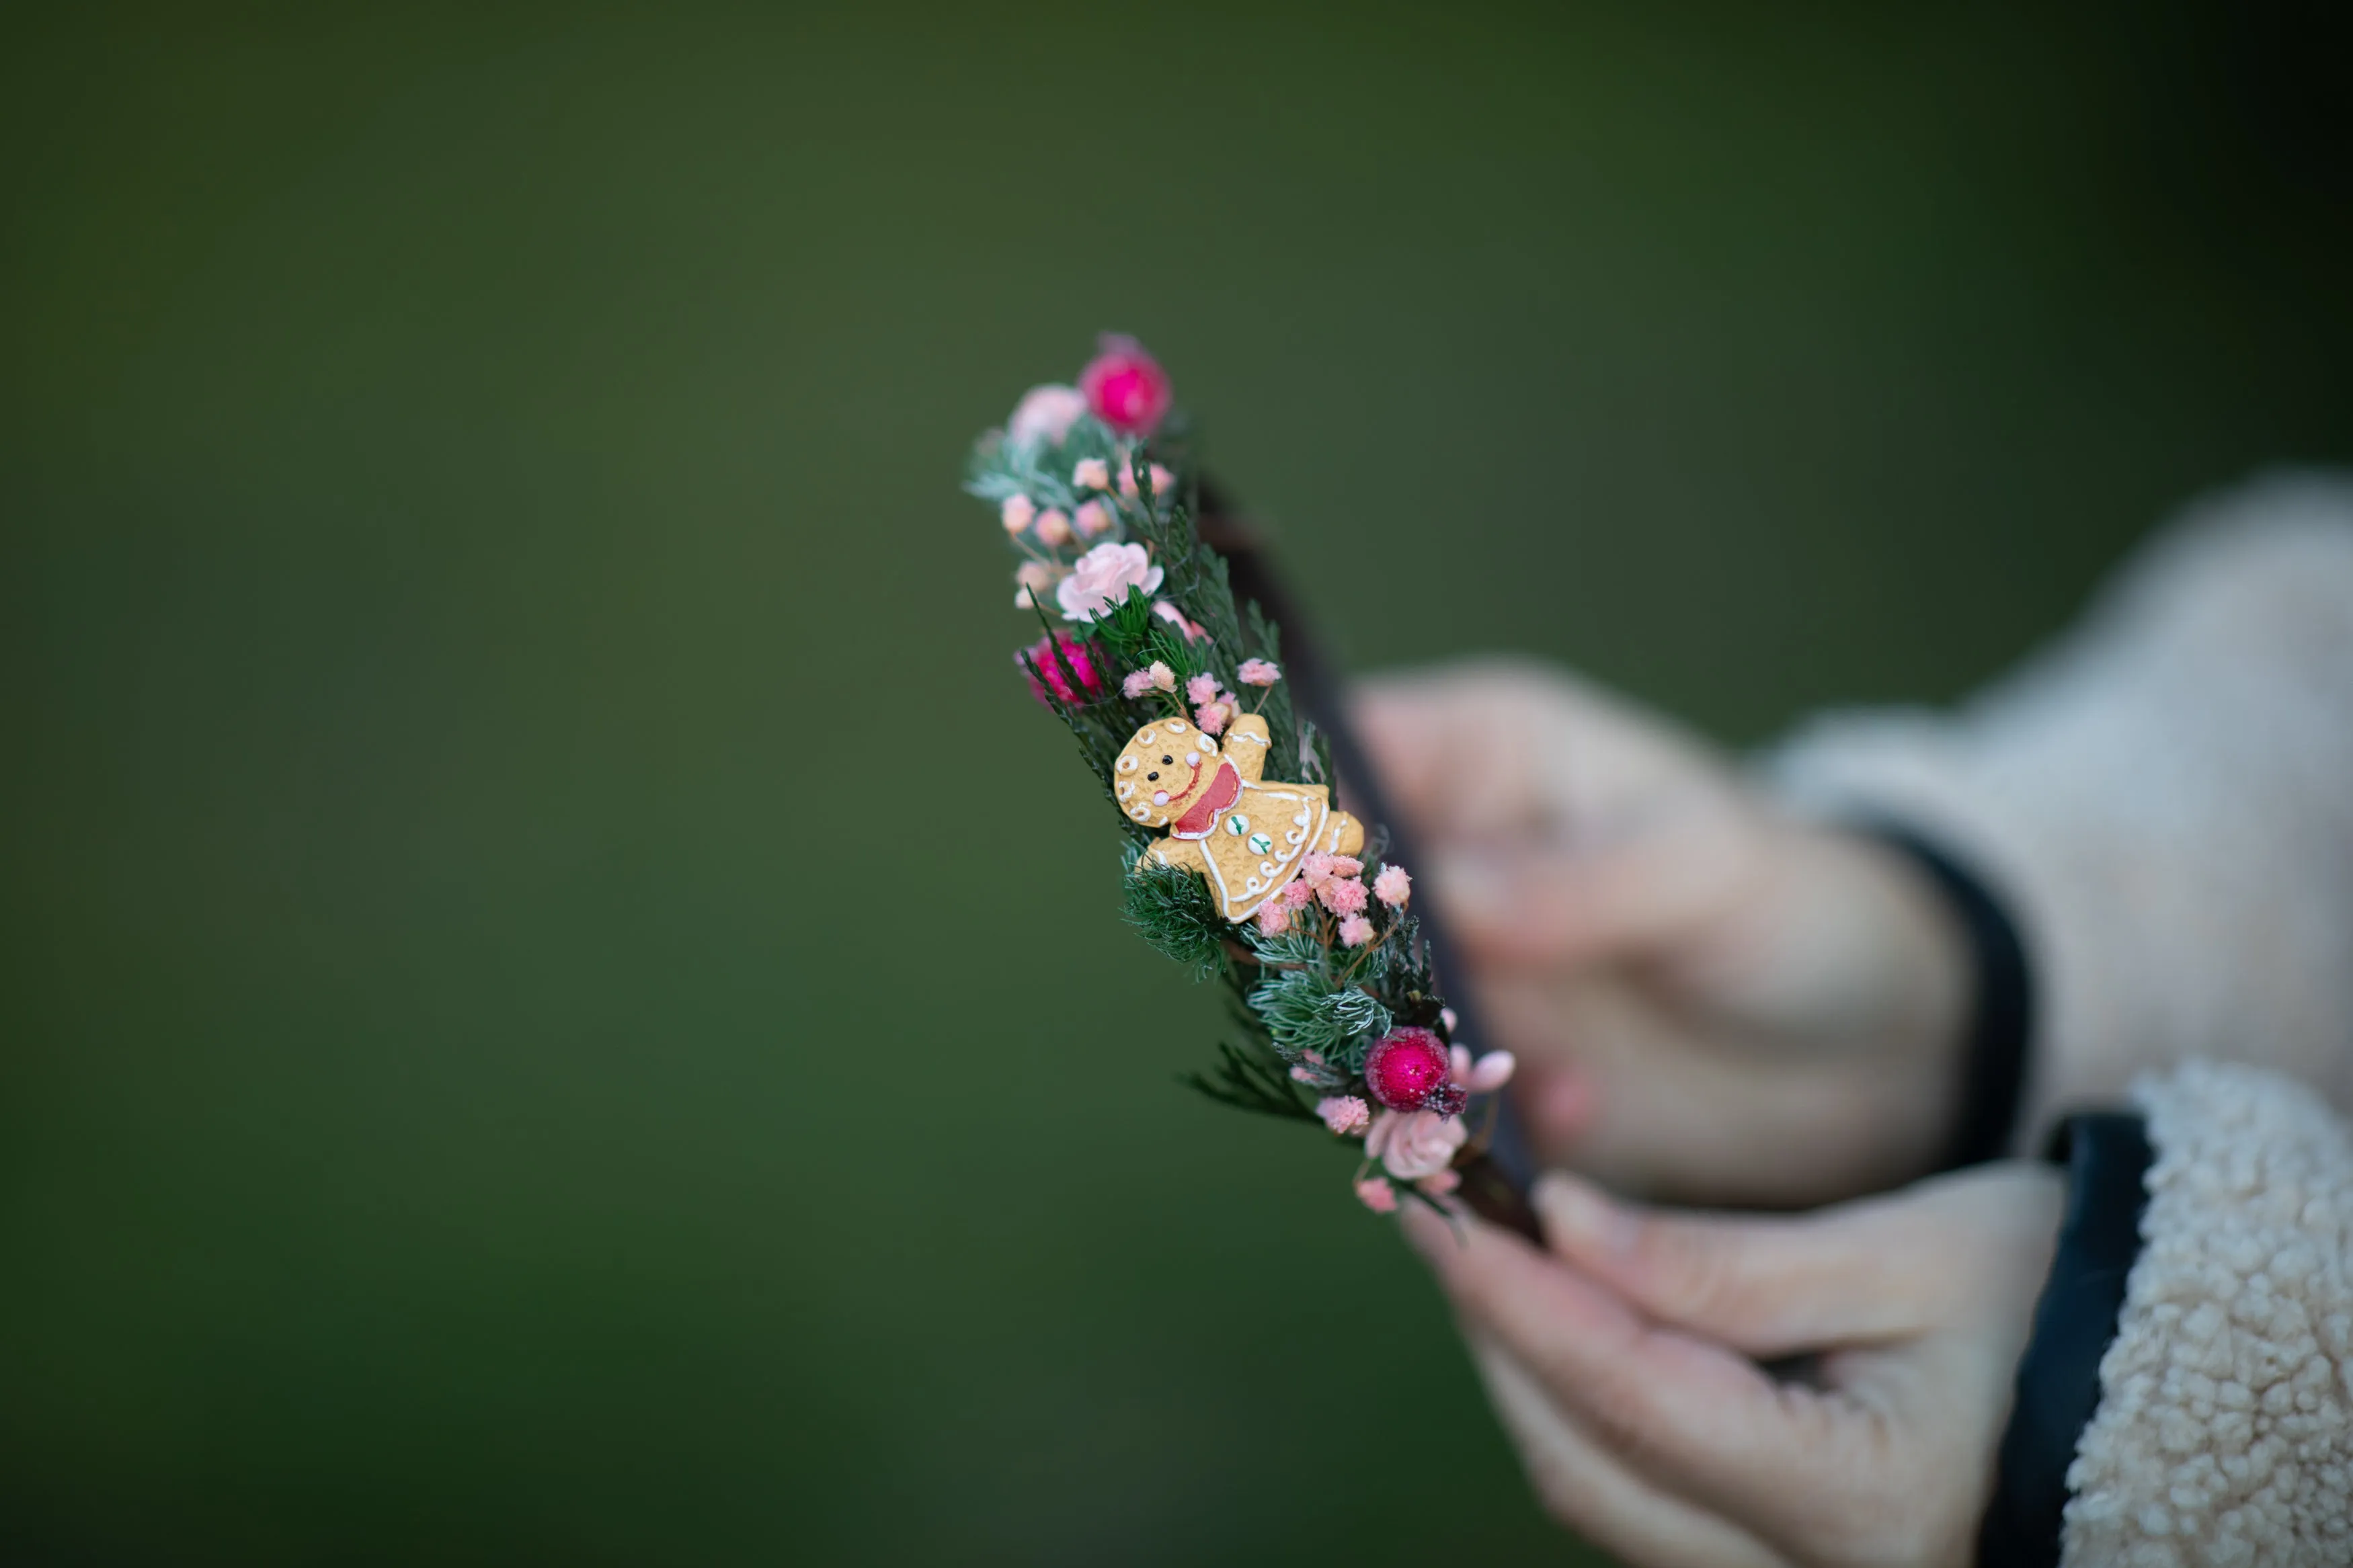
M1457 1234L1419 1211L1402 1220L1466 1331L1508 1349L1602 1450L1699 1509L1786 1530L1824 1476L1866 1462L1835 1406L1777 1387L1722 1345L1647 1324L1518 1237L1478 1222Z

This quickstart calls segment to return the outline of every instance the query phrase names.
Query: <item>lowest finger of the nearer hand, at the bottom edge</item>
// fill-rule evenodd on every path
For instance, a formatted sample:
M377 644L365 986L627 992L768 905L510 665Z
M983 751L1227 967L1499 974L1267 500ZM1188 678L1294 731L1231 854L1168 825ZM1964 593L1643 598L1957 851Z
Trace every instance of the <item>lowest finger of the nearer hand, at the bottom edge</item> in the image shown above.
M1617 1462L1485 1333L1471 1354L1544 1509L1638 1568L1786 1568L1748 1530L1682 1502Z

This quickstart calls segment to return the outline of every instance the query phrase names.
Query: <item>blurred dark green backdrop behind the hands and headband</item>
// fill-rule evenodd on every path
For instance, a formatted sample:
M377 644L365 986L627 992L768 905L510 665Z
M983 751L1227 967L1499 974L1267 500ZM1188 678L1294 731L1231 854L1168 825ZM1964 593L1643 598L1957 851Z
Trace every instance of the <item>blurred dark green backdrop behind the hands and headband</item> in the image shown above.
M1358 661L1732 743L2353 456L2299 49L1659 9L12 26L5 1556L1574 1561L969 435L1139 331Z

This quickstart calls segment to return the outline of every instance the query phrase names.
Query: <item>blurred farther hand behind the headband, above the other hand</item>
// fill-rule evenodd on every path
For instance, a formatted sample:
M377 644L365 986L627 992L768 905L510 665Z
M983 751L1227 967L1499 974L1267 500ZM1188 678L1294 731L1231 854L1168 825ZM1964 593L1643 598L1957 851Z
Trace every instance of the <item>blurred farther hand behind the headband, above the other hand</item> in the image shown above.
M1355 717L1551 1164L1744 1206L1932 1168L1969 976L1908 860L1534 665L1379 679Z

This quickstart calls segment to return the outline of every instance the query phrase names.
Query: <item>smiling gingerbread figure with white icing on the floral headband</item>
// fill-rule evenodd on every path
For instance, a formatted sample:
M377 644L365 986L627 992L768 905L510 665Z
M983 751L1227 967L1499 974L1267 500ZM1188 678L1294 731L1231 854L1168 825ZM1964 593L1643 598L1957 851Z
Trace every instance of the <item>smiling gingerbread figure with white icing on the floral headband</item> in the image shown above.
M1226 752L1184 719L1136 731L1113 769L1127 816L1169 837L1148 860L1200 872L1226 919L1249 919L1299 875L1308 851L1353 856L1365 825L1332 809L1322 785L1261 783L1266 719L1245 712L1226 731Z

